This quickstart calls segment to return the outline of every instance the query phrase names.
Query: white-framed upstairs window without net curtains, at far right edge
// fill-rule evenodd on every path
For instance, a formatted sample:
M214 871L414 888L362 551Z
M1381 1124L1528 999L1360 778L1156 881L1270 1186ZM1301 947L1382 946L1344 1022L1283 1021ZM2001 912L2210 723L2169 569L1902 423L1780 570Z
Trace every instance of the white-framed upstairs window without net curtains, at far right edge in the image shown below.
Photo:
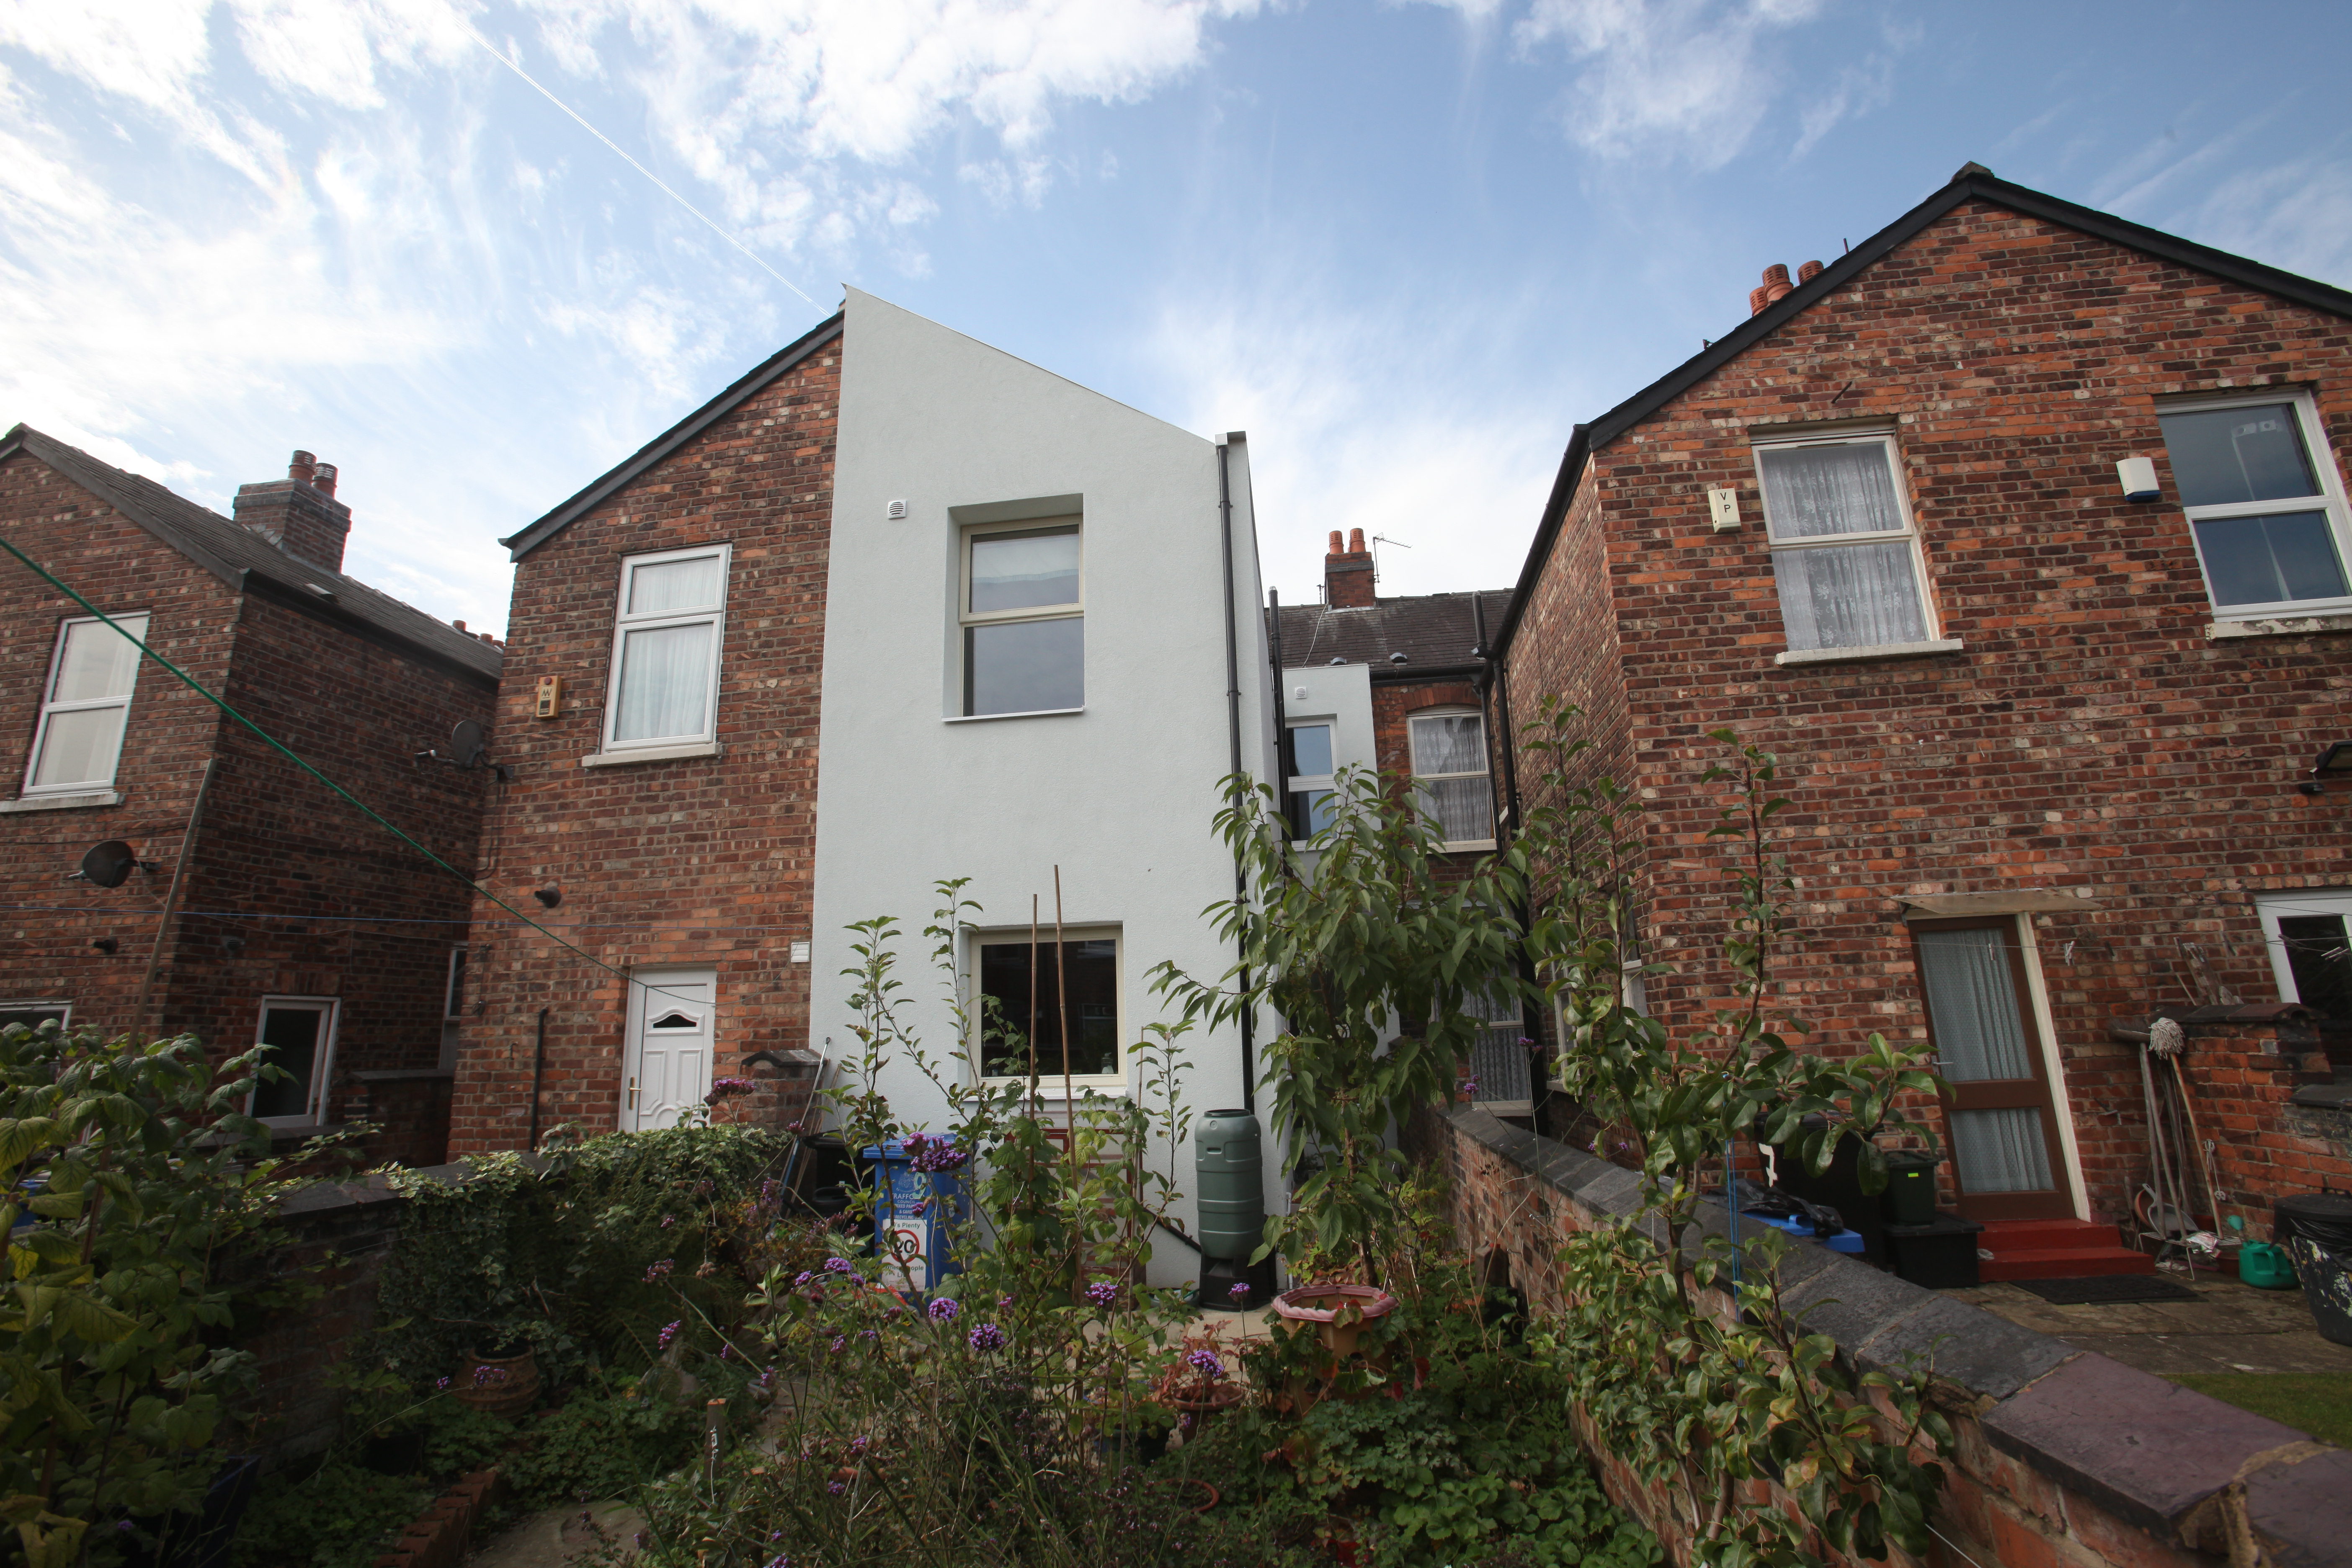
M2343 475L2307 393L2169 402L2157 423L2216 616L2352 609Z

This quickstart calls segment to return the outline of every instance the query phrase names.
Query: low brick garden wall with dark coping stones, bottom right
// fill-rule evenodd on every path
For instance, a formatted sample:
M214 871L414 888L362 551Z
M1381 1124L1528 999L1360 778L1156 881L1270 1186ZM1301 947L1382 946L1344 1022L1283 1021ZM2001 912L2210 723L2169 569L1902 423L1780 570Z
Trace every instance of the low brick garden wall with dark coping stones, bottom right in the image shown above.
M1555 1255L1569 1232L1642 1208L1632 1171L1477 1107L1421 1112L1406 1145L1451 1175L1461 1246L1508 1258L1510 1284L1536 1312L1562 1305ZM1703 1206L1703 1229L1726 1234L1726 1222L1719 1204ZM1943 1568L2213 1563L2230 1554L2239 1500L2277 1568L2352 1563L2352 1453L1820 1244L1799 1241L1780 1284L1792 1307L1811 1309L1806 1331L1828 1333L1860 1371L1933 1356L1955 1432L1931 1521L1945 1537ZM1658 1493L1609 1460L1602 1481L1686 1561L1684 1533ZM1778 1488L1771 1500L1795 1509ZM1912 1559L1896 1552L1893 1561Z

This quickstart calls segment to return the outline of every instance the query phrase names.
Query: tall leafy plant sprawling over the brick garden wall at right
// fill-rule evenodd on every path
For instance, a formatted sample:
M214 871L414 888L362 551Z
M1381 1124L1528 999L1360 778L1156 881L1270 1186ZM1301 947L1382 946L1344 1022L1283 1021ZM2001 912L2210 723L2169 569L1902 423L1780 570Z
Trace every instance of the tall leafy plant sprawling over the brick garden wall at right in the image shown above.
M1569 1399L1602 1446L1679 1505L1693 1561L1813 1563L1818 1533L1849 1556L1891 1547L1929 1549L1926 1512L1938 1465L1915 1446L1947 1446L1950 1427L1929 1403L1929 1371L1839 1371L1835 1342L1804 1333L1785 1309L1778 1262L1788 1239L1733 1248L1724 1237L1689 1246L1705 1171L1729 1166L1733 1140L1762 1133L1790 1145L1816 1173L1842 1138L1863 1145L1865 1192L1886 1185L1872 1135L1933 1133L1907 1107L1940 1084L1922 1056L1872 1034L1844 1060L1797 1051L1790 1018L1773 1013L1773 954L1785 938L1790 891L1773 849L1776 762L1731 731L1715 738L1731 762L1705 783L1729 783L1710 837L1740 849L1724 959L1733 1001L1686 1041L1625 1004L1621 976L1632 952L1628 867L1637 856L1637 802L1609 780L1571 776L1573 708L1545 705L1531 750L1550 757L1548 804L1529 816L1526 846L1548 870L1548 898L1531 924L1531 952L1571 1037L1559 1079L1611 1128L1642 1173L1637 1222L1576 1234L1562 1251L1569 1309L1538 1328L1566 1371ZM1729 1284L1733 1312L1696 1291ZM1752 1502L1752 1483L1776 1481L1802 1519Z

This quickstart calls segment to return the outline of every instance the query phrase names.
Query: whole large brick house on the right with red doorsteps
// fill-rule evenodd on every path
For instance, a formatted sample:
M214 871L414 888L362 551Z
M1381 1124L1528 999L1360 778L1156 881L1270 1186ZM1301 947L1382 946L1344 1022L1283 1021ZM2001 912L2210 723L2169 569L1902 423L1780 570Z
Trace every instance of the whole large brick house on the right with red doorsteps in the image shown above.
M2201 1009L2220 1211L2267 1234L2352 1175L2343 1112L2291 1107L2352 1065L2312 773L2352 738L2352 294L1969 165L1750 310L1576 428L1496 632L1510 726L1581 703L1646 804L1649 1004L1729 983L1731 726L1792 802L1783 997L1816 1048L1933 1039L1990 1276L2145 1267L2112 1225L2159 1009Z

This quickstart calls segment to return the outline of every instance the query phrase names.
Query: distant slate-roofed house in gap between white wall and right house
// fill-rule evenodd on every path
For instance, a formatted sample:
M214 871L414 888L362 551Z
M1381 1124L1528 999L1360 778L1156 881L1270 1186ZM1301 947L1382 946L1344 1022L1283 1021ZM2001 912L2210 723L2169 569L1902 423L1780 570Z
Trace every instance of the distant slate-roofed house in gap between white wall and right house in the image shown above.
M1327 818L1334 773L1374 769L1414 790L1444 832L1449 858L1470 865L1496 846L1501 792L1491 778L1491 670L1484 642L1510 590L1381 597L1364 529L1331 529L1322 602L1268 616L1282 778L1303 839ZM1498 1114L1531 1110L1519 1025L1496 1009L1470 1074Z

